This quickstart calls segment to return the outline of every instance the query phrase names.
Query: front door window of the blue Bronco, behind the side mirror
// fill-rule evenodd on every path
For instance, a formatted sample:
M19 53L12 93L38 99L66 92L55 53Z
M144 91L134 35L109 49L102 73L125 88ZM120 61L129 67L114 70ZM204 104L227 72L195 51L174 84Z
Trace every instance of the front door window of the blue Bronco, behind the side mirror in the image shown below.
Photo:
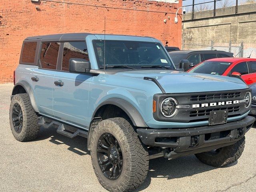
M70 58L79 58L89 61L88 51L86 42L65 42L63 48L63 58L61 70L69 70L69 60Z

